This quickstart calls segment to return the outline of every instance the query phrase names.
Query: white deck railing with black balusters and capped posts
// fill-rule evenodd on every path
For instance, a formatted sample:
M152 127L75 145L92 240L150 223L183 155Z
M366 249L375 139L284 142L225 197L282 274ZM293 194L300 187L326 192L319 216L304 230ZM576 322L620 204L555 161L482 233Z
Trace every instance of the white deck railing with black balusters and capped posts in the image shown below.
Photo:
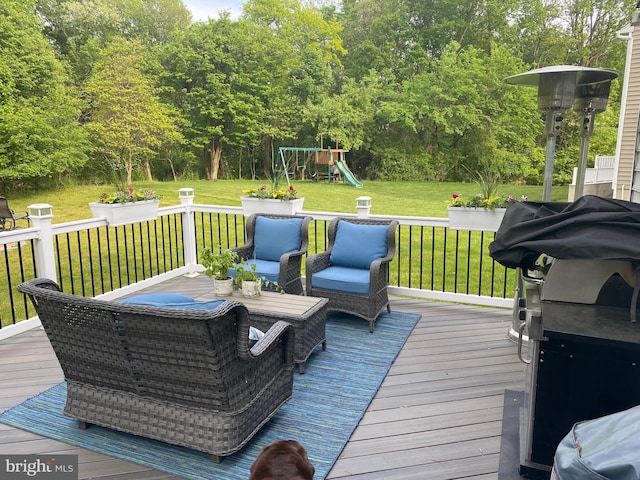
M170 216L177 216L180 220L179 228L172 232L172 234L179 237L177 242L173 242L173 245L177 245L180 248L180 265L160 273L153 273L150 278L144 278L144 280L141 281L134 278L133 283L129 285L123 285L121 287L112 285L113 290L105 290L102 293L98 291L95 295L96 297L114 299L160 283L169 278L180 275L196 275L203 270L198 263L197 242L199 242L199 246L202 246L202 239L200 237L202 236L202 229L205 227L204 219L211 216L237 218L238 216L242 216L242 209L241 207L195 204L192 189L181 190L190 190L191 192L190 195L185 196L183 196L182 191L180 192L180 205L162 207L158 210L158 220L161 218L167 219L167 217ZM60 262L61 256L59 251L60 246L56 243L59 237L78 237L79 239L81 235L89 236L91 232L95 234L97 230L106 231L108 229L109 232L112 232L116 229L124 228L108 227L104 218L91 218L54 224L52 223L54 207L47 204L30 205L29 212L32 227L0 232L0 248L4 249L4 263L7 265L7 278L0 278L0 295L5 296L5 298L10 298L12 311L17 310L13 308L14 304L20 306L25 301L22 294L19 294L17 290L15 290L15 287L17 287L21 281L31 279L37 275L39 277L50 278L60 283L60 279L57 278L60 265L56 264L56 262ZM324 229L325 222L330 221L336 216L349 216L349 214L336 212L304 211L301 213L313 217L316 222L320 222L317 227L319 229ZM353 214L353 216L356 215L394 218L400 223L401 234L399 233L398 238L401 241L399 241L397 245L398 258L396 270L394 271L394 276L397 277L397 283L389 286L389 293L423 299L473 303L503 308L511 308L513 305L512 292L508 291L510 287L507 287L507 285L512 283L515 274L510 273L510 279L507 282L506 272L504 271L497 272L496 274L494 274L493 270L483 273L483 271L490 268L496 269L495 265L493 267L489 266L492 261L486 258L488 255L485 253L488 243L493 239L493 232L487 233L485 239L485 232L452 231L448 229L449 221L446 218L369 215L368 209L366 211L359 210L357 214ZM242 229L243 222L236 220L229 228L237 229L237 225ZM142 228L140 229L142 230ZM438 236L436 232L438 232ZM200 237L198 235L200 235ZM239 238L238 235L243 237L243 232L235 232L233 235L235 238ZM476 235L479 237L476 237ZM444 251L438 250L438 248L440 248L439 242L441 237L444 238ZM478 238L478 240L475 240L476 238ZM98 236L98 240L100 239L102 239L103 242L105 241L104 237ZM472 245L475 244L479 244L479 246L472 247ZM434 245L436 246L434 247ZM318 247L316 246L316 248ZM472 248L480 249L480 256L478 258L470 255L469 251ZM16 256L18 249L20 252L19 255ZM94 246L93 249L95 250L96 247ZM71 261L71 257L77 255L74 252L70 252L68 255L67 252L63 253L65 253L65 257L69 257L69 261ZM310 251L309 253L312 252ZM425 260L423 260L423 256ZM19 260L17 257L19 257ZM443 260L444 257L448 259ZM483 257L485 258L483 259ZM446 263L445 266L438 265L437 268L440 268L441 272L434 274L434 268L436 268L434 267L435 262L441 263L442 261L448 263ZM19 263L19 267L11 267L14 270L19 268L20 274L17 278L9 278L8 270L10 270L9 265L12 262ZM80 269L82 266L76 268ZM409 270L408 273L406 272L407 270ZM95 269L92 269L91 273L87 273L86 275L95 275L95 273L93 273L94 271ZM431 274L429 274L429 271L431 271ZM454 272L452 273L452 271ZM68 276L66 270L65 275ZM429 275L431 275L431 277L434 275L438 277L436 279L436 283L438 284L436 285L437 288L429 288L434 285L433 278L431 279L431 284L426 280L423 281L423 278ZM453 280L450 275L454 275ZM491 286L491 293L487 295L480 294L479 291L473 293L469 288L469 278L466 279L467 283L465 288L465 275L467 277L473 277L476 281L479 281L480 284L482 284L482 282L485 282L485 284L487 282L496 282L495 288ZM484 275L485 278L490 277L490 279L477 280L477 275ZM495 279L494 275L496 275ZM63 280L67 282L67 285L69 281L73 281L69 279ZM91 280L93 281L93 279ZM2 285L3 281L6 285ZM453 287L451 285L453 285ZM107 285L107 287L111 288L109 285ZM65 289L65 291L66 290L67 289ZM89 295L91 295L91 291L89 291ZM22 306L25 310L28 308L26 305ZM0 329L0 339L8 336L12 331L13 333L11 334L14 334L31 328L33 324L30 322L33 321L35 320L27 320L24 319L24 317L20 318L20 314L14 314L14 324L7 326L5 320L4 327Z

